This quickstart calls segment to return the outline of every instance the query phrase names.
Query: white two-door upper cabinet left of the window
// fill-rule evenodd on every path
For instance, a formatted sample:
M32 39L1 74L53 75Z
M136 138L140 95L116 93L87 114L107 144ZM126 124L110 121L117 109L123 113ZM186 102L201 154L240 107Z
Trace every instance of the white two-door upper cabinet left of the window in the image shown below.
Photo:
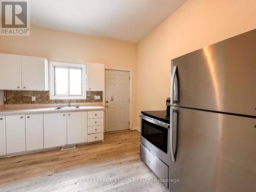
M0 90L49 91L49 62L0 53Z

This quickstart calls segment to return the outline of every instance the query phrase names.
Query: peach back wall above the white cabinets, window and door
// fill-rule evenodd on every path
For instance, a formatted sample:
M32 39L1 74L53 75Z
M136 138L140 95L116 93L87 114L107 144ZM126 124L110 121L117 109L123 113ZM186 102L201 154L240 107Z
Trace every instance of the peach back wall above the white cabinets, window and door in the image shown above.
M0 36L0 53L45 57L48 60L62 62L98 62L104 63L105 67L132 69L132 126L134 126L136 118L136 44L33 26L30 36Z

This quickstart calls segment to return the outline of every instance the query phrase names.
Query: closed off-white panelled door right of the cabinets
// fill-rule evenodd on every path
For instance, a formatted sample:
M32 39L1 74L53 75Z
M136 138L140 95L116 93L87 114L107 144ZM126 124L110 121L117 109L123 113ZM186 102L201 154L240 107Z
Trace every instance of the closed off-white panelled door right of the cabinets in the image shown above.
M106 132L129 129L128 71L105 71Z

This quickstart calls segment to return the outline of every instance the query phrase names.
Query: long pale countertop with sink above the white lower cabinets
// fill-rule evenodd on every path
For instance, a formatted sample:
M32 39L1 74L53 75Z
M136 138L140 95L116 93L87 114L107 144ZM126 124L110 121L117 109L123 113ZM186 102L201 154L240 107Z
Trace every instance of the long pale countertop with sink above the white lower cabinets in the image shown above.
M0 116L5 115L27 115L38 113L65 113L65 112L79 112L79 111L100 111L104 110L103 106L79 106L78 109L59 109L54 108L33 108L33 109L1 109Z

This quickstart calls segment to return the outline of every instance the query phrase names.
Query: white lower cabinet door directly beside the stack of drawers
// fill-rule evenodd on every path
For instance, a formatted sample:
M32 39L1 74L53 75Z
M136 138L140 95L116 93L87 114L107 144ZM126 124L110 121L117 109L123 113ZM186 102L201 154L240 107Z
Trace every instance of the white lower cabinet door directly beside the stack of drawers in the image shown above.
M87 142L87 112L67 113L68 144Z

